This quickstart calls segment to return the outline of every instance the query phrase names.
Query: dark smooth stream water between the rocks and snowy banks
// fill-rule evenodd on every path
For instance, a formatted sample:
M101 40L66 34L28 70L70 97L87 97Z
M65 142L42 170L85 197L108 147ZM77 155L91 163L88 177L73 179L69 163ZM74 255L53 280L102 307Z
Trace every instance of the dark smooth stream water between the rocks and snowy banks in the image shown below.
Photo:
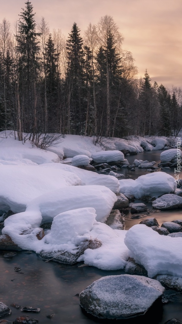
M134 161L134 158L159 161L160 153L161 151L144 152L137 156L127 156L127 158L130 163ZM133 179L135 179L136 173L138 172L140 172L139 175L146 173L145 170L136 169L137 171L135 172L129 172ZM173 175L172 173L173 170L171 169L170 174ZM139 175L137 175L136 178ZM151 204L147 205L150 209ZM126 215L126 217L129 216L130 214ZM182 210L149 214L143 216L142 219L148 217L155 217L161 225L164 221L182 219ZM138 224L142 219L127 220L126 229ZM3 316L3 319L8 319L13 322L13 320L20 315L26 315L37 318L40 324L113 323L110 320L97 321L88 318L80 309L79 297L77 294L102 276L124 274L122 270L103 271L95 267L80 267L82 263L65 265L53 261L45 262L34 252L25 254L23 251L18 251L14 257L7 259L3 256L5 252L7 251L0 251L0 301L12 309L12 314ZM21 272L25 273L21 274L15 272L14 267L20 267L22 269ZM40 312L25 313L21 311L20 308L11 307L10 305L13 303L22 307L38 307L40 308ZM47 318L47 315L50 314L55 315L51 319ZM155 303L145 316L132 320L118 320L115 322L123 324L164 324L170 318L178 318L182 321L182 294L175 294L167 304Z

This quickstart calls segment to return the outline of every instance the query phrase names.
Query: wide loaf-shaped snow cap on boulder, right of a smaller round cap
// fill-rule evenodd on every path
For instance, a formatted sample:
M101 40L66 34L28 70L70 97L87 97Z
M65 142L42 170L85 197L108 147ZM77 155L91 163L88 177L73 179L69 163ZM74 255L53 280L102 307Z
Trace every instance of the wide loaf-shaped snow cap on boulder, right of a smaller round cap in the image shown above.
M124 161L124 154L117 150L96 152L91 157L97 163Z

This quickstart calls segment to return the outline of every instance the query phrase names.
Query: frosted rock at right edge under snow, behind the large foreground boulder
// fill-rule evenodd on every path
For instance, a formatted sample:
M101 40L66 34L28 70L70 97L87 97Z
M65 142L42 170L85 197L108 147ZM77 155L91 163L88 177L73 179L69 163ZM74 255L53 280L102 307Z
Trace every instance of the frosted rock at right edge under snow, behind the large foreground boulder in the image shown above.
M170 274L158 274L155 277L164 287L182 292L182 278Z

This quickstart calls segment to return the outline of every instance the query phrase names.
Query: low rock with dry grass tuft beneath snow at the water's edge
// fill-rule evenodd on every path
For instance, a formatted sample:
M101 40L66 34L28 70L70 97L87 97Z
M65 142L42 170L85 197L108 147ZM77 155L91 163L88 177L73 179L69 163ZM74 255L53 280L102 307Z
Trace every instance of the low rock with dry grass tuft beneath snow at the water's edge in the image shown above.
M72 254L69 251L41 251L39 256L43 260L53 260L60 263L75 264L80 255L83 254L86 249L98 249L101 245L102 242L98 238L94 238L82 242L82 244L78 246L77 252L75 254Z

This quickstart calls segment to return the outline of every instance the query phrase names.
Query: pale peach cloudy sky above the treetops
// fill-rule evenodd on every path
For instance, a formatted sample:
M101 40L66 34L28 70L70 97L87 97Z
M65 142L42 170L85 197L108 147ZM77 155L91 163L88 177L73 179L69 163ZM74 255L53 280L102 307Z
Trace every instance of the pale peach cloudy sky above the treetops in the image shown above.
M73 22L84 30L91 22L110 15L123 34L123 49L132 52L138 77L145 69L151 82L182 88L182 0L32 0L38 24L41 17L50 30L61 29L68 37ZM5 17L12 29L24 0L0 0L0 22Z

